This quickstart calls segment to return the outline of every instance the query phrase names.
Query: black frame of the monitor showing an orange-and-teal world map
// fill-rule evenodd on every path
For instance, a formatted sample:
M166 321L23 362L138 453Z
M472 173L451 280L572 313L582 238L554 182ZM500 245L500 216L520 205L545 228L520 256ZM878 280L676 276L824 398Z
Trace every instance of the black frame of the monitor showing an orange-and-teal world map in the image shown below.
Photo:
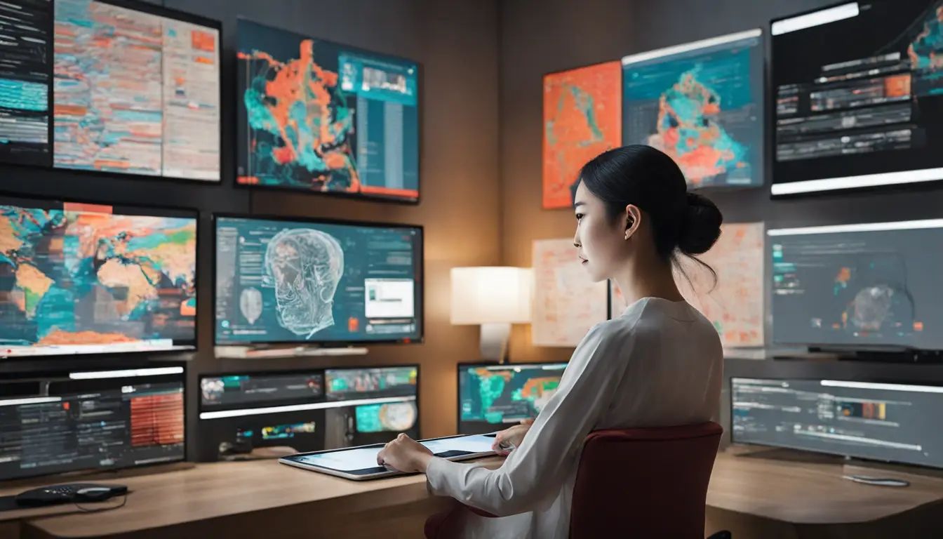
M57 196L42 196L37 194L21 194L13 193L9 191L0 190L0 199L3 198L12 198L19 199L21 201L35 200L41 202L47 202L50 204L88 204L90 206L108 206L109 208L126 208L131 210L140 210L140 211L167 211L167 212L176 212L176 213L189 213L190 217L196 225L196 236L195 236L195 247L194 247L194 270L193 270L193 290L195 291L194 295L197 297L196 302L196 315L193 317L193 339L192 341L187 342L187 344L180 345L181 347L176 349L157 349L157 350L133 350L133 351L104 351L104 352L86 352L86 353L73 353L73 354L36 354L36 355L18 355L18 356L0 356L0 362L24 362L24 361L42 361L48 359L56 359L57 361L63 361L67 359L73 359L81 361L82 358L108 358L115 356L124 356L132 355L135 357L145 357L147 355L155 356L165 356L165 355L180 355L180 354L191 354L196 352L199 349L200 342L200 221L202 220L202 213L197 208L193 207L171 207L171 206L160 206L156 204L124 204L124 203L115 203L115 202L101 202L96 201L90 198L84 197L69 197L68 199L59 198ZM121 214L121 213L119 213ZM147 216L147 217L166 217L166 215L153 215L147 213L136 213L135 215Z

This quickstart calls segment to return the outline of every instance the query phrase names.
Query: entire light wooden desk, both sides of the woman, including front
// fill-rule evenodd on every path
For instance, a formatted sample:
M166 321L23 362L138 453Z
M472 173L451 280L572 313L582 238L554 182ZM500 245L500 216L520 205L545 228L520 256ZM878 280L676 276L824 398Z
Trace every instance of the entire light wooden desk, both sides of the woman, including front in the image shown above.
M906 488L841 479L834 460L786 462L718 454L707 493L706 531L736 539L943 537L943 478L902 475ZM501 459L481 461L488 467ZM107 481L103 481L107 482ZM97 514L74 507L0 513L13 537L422 537L422 522L450 500L430 497L424 476L350 481L274 461L204 463L124 478L127 504ZM23 487L0 490L7 496ZM6 532L6 534L5 534Z

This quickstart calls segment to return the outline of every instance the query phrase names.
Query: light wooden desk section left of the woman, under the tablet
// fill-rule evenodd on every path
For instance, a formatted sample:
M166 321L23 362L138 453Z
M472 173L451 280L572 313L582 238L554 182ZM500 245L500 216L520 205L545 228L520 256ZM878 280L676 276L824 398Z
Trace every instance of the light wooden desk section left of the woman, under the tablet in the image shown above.
M497 467L502 461L478 462ZM423 475L352 481L276 461L201 463L190 470L101 482L128 486L132 493L123 508L94 514L76 512L74 506L0 513L0 538L366 538L377 530L412 538L422 537L429 514L450 503L428 494ZM23 490L3 489L0 496Z

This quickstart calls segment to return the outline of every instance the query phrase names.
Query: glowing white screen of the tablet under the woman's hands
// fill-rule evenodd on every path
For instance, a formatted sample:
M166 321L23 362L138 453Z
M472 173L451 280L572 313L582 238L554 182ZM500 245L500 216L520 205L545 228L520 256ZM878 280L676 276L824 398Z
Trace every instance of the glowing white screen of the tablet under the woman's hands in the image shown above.
M435 456L450 461L465 461L494 454L491 450L494 433L430 438L419 440L419 443L428 447ZM372 480L404 475L403 472L376 465L376 454L384 446L385 444L373 444L295 453L278 459L278 462L349 480Z

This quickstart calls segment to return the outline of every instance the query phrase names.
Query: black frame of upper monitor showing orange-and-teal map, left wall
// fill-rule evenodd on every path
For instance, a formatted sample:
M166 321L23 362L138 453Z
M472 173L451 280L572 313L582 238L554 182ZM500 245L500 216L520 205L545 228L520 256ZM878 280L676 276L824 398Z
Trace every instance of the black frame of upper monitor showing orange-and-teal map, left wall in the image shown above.
M315 36L302 34L300 32L295 32L290 29L279 27L279 26L266 25L264 23L259 23L258 21L254 19L251 19L249 17L244 17L241 15L236 17L235 48L237 52L239 51L240 23L249 23L252 25L262 26L262 27L269 28L275 31L279 31L279 32L287 32L290 34L295 34L295 35L304 37L306 39L313 40L315 42L327 42L332 45L336 45L339 48L347 49L352 52L369 54L376 57L385 57L388 59L403 60L403 61L411 62L412 64L414 64L416 66L416 93L417 93L416 109L417 109L417 119L418 119L418 129L417 129L417 136L416 136L416 144L417 144L416 151L417 151L417 157L418 157L417 162L419 164L419 168L417 171L417 178L416 178L416 191L418 192L418 194L416 198L403 198L403 197L389 196L389 195L384 195L384 194L347 193L347 192L342 192L342 191L315 191L312 189L302 189L302 188L289 187L289 186L284 186L284 185L260 185L260 184L252 184L252 183L242 183L239 180L240 175L238 174L238 169L240 165L240 151L241 151L238 143L237 143L237 147L234 148L233 150L235 152L235 156L233 159L235 163L234 170L233 170L234 174L233 174L233 179L232 179L233 186L236 187L237 189L258 190L262 192L271 191L271 192L276 192L276 193L282 192L282 193L296 193L296 194L311 194L315 196L323 196L326 198L338 197L338 198L347 198L347 199L352 199L352 200L367 200L371 202L382 202L386 204L402 204L402 205L407 205L407 206L418 206L422 202L422 177L423 177L423 174L422 174L422 133L423 133L422 110L424 109L424 107L422 106L423 105L422 100L423 100L423 96L425 95L425 92L423 90L424 85L422 84L422 78L424 74L422 62L418 60L414 60L414 59L408 59L408 58L398 56L395 54L389 54L389 53L379 52L379 51L375 51L372 49L368 49L368 48L364 48L364 47L360 47L356 45L350 45L344 42L335 42L332 40L326 40L323 38L318 38ZM236 66L236 70L238 73L239 71L238 64ZM240 128L240 125L239 125L240 124L240 107L244 107L244 105L242 104L242 101L240 100L240 92L239 92L240 81L238 80L239 77L237 76L236 78L237 80L236 80L235 94L236 94L237 105L236 105L236 109L233 111L233 114L235 114L234 121L236 123L236 130L238 132Z

